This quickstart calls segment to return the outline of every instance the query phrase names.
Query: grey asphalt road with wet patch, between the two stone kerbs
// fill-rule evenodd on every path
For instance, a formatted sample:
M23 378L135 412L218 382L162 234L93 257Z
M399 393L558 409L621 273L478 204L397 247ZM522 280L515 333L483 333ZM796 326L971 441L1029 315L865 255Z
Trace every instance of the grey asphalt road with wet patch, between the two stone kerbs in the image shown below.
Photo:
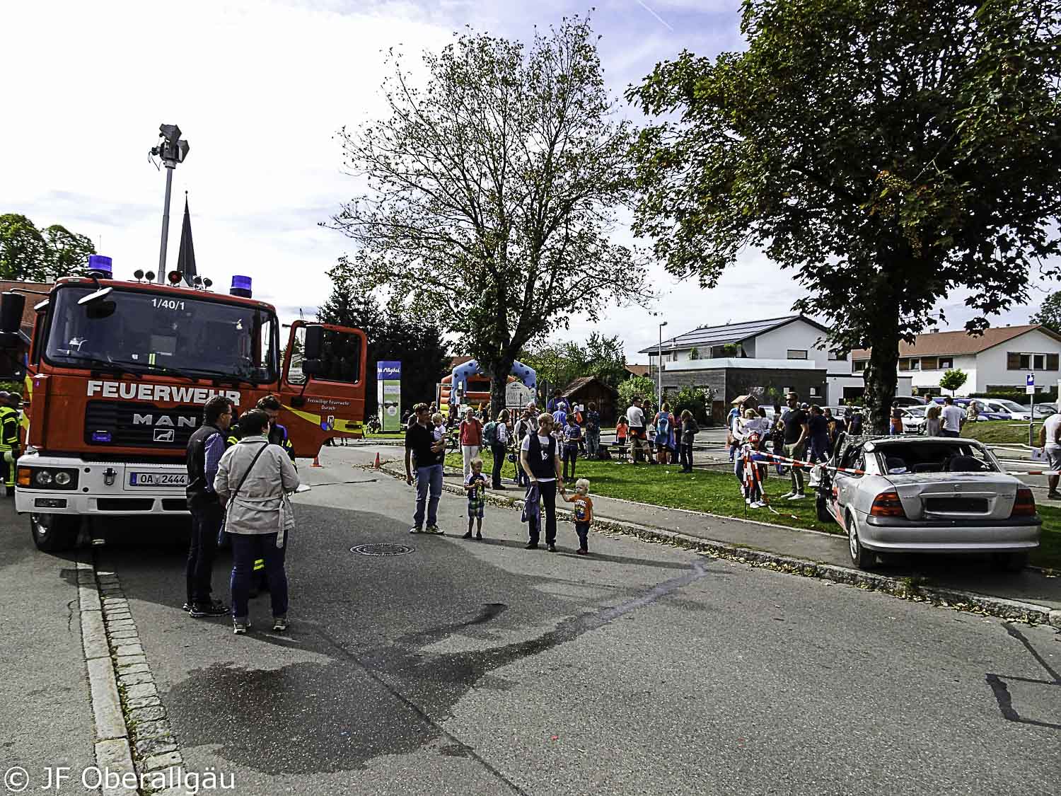
M94 549L187 768L231 773L239 794L1057 793L1050 628L629 537L592 534L584 558L570 524L560 553L526 551L518 514L492 506L488 538L465 541L448 494L448 535L411 536L404 484L302 472L318 486L297 499L286 636L264 629L267 598L247 637L187 618L172 530L111 525ZM350 552L371 542L414 550ZM62 584L65 566L29 553L8 568ZM36 674L4 662L12 716ZM71 736L82 673L70 667Z

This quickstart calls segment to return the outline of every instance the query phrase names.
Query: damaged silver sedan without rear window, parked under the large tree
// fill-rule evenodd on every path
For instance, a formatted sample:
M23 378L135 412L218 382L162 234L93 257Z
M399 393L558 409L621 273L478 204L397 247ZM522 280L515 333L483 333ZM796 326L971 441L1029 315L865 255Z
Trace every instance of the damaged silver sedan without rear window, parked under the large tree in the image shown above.
M848 534L852 563L874 566L881 553L991 553L1023 569L1039 547L1042 519L1016 477L974 439L845 437L825 470L817 511Z

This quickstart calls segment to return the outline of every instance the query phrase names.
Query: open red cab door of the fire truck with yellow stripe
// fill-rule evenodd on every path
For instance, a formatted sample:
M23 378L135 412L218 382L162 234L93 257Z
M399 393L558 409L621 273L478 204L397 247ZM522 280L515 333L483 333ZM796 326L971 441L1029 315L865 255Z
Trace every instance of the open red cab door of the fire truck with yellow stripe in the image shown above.
M291 325L280 421L296 455L315 456L332 436L362 436L367 343L361 329L305 321Z

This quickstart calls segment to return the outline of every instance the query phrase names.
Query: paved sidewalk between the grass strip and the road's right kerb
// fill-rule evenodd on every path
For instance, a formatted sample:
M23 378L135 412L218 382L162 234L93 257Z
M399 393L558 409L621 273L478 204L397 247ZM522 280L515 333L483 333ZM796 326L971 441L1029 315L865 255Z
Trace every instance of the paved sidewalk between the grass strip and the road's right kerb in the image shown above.
M333 461L370 464L377 450L379 449L368 446L338 448L335 449ZM343 454L342 451L349 451L349 454ZM399 469L404 467L394 453L393 449L381 451L381 457L384 462L394 463ZM447 473L447 481L459 482L459 475ZM312 483L310 480L308 482ZM512 499L521 497L521 491L515 485L506 483L506 486L509 488L505 491L493 494ZM746 521L594 495L593 513L601 519L676 531L700 539L852 568L846 536L771 525L770 514L765 509L756 513L754 521ZM920 577L930 586L1036 603L1061 610L1061 577L1048 577L1036 569L1026 569L1020 573L997 572L989 561L977 558L894 556L892 561L873 571L891 577Z

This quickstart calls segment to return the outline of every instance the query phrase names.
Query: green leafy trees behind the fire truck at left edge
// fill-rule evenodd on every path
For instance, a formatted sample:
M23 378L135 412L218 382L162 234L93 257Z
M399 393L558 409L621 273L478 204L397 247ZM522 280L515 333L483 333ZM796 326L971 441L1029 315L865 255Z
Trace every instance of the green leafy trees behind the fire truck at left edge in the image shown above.
M0 215L0 279L50 282L82 274L92 241L53 224L41 230L18 213Z

